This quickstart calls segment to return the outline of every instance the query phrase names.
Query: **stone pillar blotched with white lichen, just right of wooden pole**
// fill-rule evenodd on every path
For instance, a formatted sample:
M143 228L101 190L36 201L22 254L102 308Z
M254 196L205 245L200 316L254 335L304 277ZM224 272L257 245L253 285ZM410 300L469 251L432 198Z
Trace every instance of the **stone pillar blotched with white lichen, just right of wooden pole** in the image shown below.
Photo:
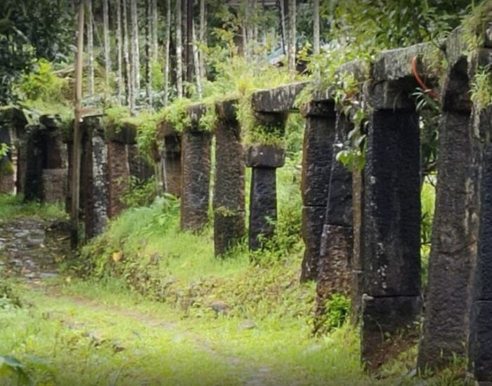
M90 239L103 233L108 222L108 145L101 117L86 117L82 125L87 175L84 181L85 232Z

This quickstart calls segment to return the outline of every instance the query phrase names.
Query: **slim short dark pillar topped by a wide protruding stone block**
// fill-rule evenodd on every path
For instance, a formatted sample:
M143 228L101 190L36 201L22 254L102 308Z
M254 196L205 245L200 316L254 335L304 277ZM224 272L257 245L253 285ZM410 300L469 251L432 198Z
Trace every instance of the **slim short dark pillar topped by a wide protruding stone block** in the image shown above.
M261 248L275 233L277 220L276 168L285 164L285 150L271 145L247 149L246 166L252 168L250 192L250 249Z

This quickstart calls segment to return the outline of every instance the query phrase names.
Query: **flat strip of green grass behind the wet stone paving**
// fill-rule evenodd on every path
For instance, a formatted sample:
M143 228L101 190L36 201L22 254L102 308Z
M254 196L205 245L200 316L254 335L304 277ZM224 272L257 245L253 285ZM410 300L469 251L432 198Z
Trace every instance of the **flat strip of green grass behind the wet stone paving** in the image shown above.
M63 203L40 204L36 201L24 202L20 195L0 194L0 221L23 217L63 220L67 218L67 214Z

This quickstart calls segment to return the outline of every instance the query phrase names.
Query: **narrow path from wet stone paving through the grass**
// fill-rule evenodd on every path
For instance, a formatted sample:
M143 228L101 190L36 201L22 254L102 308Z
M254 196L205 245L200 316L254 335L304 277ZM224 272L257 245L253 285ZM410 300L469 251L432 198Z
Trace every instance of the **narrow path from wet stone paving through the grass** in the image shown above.
M153 317L148 313L139 312L116 305L107 305L101 301L84 296L64 295L57 286L46 284L46 279L58 276L57 264L68 253L69 238L64 222L49 223L36 218L22 218L10 222L0 222L0 269L9 276L22 278L30 288L42 298L39 302L52 302L53 313L66 328L82 328L90 326L90 334L94 340L105 335L104 326L98 326L98 318L117 317L122 325L133 324L141 328L151 329L159 335L173 335L173 340L192 342L194 350L206 354L214 361L226 364L233 373L237 373L240 384L247 386L276 385L272 371L266 366L252 366L245 359L224 354L217 345L200 334L199 329L190 331L183 328L179 318L169 315L169 320ZM71 305L77 311L66 312L63 307ZM36 306L36 305L34 305ZM90 321L84 314L90 312ZM118 336L105 336L105 340L115 342L118 347ZM124 347L121 348L124 350ZM280 381L279 381L280 382Z

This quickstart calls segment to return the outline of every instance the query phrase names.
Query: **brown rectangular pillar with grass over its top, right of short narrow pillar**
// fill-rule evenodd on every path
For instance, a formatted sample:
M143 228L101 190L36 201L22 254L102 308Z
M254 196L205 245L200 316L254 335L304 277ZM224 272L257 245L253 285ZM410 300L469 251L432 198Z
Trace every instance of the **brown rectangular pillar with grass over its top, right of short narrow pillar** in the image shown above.
M188 107L191 124L182 135L181 229L200 231L208 221L212 134L201 131L204 105Z

